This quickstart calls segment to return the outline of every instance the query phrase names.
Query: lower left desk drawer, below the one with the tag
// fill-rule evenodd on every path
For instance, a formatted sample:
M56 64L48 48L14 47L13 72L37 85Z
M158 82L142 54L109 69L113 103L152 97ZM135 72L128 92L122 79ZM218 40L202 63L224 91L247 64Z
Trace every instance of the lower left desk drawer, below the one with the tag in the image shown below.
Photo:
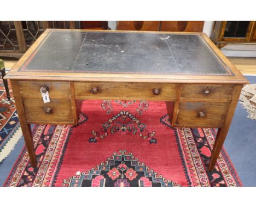
M24 98L22 101L28 123L73 124L71 100L51 99L43 103L42 99Z

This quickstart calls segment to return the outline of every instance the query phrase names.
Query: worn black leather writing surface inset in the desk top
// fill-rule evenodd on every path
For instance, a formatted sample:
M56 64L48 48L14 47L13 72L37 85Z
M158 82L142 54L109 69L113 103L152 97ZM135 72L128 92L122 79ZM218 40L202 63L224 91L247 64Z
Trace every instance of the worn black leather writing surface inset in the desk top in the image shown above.
M233 75L197 34L72 30L52 30L18 71Z

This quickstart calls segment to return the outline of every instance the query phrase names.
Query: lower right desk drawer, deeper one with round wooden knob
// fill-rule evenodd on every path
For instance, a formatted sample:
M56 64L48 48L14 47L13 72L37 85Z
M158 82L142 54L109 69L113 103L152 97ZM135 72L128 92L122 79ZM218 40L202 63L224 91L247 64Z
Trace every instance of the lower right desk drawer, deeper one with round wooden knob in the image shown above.
M220 127L229 102L180 102L174 126Z

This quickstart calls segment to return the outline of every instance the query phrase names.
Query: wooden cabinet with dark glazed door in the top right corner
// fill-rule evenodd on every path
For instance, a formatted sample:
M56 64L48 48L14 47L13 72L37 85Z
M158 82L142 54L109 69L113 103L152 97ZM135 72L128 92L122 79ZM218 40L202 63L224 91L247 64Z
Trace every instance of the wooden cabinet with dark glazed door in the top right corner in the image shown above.
M225 44L256 43L256 21L216 21L211 39L220 48Z

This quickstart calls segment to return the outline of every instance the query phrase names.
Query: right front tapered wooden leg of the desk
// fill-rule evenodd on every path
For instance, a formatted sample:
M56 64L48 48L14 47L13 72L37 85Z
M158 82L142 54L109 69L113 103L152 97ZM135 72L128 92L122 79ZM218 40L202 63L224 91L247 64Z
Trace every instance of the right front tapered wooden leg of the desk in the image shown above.
M232 100L231 100L230 105L229 105L228 112L226 114L226 119L224 121L224 125L221 129L218 130L216 140L215 140L213 150L212 150L210 165L209 165L209 168L208 168L208 170L210 172L212 172L212 170L213 170L213 168L216 164L216 161L219 157L220 150L222 149L222 145L225 141L226 134L228 134L229 126L231 124L233 115L235 113L236 105L237 105L241 90L242 90L242 85L236 85L236 87L234 89L234 94L232 96Z

